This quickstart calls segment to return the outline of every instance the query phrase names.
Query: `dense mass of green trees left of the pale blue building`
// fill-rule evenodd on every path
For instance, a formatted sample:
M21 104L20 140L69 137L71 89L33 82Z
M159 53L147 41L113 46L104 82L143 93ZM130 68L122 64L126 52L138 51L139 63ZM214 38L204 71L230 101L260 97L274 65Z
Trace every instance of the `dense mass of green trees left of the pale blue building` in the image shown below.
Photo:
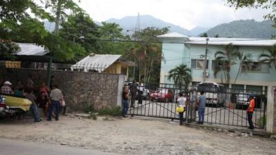
M121 54L137 64L130 77L159 82L163 57L157 35L168 28L145 28L127 36L117 23L95 24L73 0L8 0L0 3L0 14L1 57L19 50L14 42L44 45L59 61L79 61L92 52ZM55 22L55 31L48 32L41 21Z

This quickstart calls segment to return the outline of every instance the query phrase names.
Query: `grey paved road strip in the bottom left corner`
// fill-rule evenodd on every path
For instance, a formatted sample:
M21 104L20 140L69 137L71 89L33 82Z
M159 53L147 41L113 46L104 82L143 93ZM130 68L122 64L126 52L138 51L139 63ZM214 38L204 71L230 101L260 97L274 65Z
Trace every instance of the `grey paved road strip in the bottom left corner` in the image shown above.
M29 143L0 138L0 155L111 155L97 150ZM112 154L113 155L113 154Z

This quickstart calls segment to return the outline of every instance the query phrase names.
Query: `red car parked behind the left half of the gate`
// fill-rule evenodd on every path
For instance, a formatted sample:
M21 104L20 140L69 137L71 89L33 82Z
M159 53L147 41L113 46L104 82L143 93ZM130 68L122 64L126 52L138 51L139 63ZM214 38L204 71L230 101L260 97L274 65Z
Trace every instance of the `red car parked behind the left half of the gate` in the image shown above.
M159 88L158 90L150 94L150 100L172 102L173 101L172 90L166 89L166 88Z

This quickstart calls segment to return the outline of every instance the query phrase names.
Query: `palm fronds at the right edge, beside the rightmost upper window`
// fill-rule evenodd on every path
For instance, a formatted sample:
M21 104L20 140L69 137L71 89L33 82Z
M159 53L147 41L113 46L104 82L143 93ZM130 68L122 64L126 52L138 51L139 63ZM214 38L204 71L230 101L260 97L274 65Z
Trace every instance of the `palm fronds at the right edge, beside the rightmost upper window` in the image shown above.
M274 45L273 48L269 49L268 52L268 54L259 55L259 62L268 63L270 68L271 64L273 64L276 68L276 45Z

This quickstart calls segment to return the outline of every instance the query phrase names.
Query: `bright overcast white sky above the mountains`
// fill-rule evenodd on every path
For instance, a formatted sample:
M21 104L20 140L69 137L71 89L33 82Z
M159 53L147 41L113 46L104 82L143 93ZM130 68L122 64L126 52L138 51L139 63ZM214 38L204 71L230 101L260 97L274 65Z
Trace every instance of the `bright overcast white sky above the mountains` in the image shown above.
M75 0L77 1L77 0ZM95 21L150 14L188 30L211 28L238 19L263 21L267 10L226 6L226 0L81 0L79 6Z

